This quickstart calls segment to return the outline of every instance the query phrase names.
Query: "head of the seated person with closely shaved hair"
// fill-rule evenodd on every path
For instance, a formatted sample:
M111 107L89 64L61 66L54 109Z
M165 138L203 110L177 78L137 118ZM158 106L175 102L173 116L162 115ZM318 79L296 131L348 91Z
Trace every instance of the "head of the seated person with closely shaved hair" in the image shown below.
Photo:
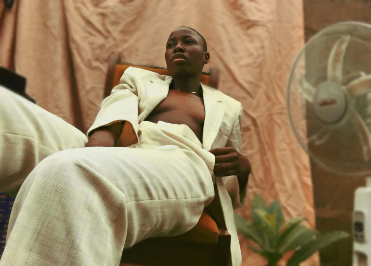
M201 37L192 29L179 27L171 32L166 44L166 65L169 75L201 74L209 53L203 51Z

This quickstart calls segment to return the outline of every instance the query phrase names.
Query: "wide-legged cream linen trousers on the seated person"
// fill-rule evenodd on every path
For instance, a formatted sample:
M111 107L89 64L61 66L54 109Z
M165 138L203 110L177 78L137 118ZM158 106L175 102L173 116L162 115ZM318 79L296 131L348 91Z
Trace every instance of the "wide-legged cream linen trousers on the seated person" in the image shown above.
M210 154L185 125L143 122L139 135L85 148L79 130L0 87L0 191L22 185L0 266L117 266L124 248L192 229L214 197Z

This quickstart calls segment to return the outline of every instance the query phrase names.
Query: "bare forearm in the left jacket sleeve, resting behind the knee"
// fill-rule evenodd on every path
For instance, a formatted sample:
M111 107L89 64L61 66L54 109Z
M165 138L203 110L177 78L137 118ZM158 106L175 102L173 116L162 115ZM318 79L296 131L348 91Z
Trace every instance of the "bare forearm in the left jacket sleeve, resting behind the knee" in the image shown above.
M86 147L114 147L118 136L121 134L123 123L102 127L91 133Z

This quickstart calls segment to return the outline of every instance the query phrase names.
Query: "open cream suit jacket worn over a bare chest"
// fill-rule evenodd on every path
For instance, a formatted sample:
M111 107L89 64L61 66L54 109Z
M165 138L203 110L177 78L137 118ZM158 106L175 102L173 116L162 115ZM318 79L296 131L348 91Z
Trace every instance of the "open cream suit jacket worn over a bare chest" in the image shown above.
M119 146L134 145L138 141L138 126L151 111L164 100L169 92L171 77L129 67L114 87L109 97L104 99L101 109L88 130L93 130L125 121ZM201 85L205 106L203 127L203 148L233 147L242 153L241 120L242 106L236 100L211 87ZM128 123L129 122L129 123ZM215 178L215 199L210 206L219 214L228 233L231 235L232 265L241 264L241 251L233 219L233 209L242 206L246 187L239 188L237 177ZM218 215L217 215L218 216ZM218 221L217 221L218 223Z

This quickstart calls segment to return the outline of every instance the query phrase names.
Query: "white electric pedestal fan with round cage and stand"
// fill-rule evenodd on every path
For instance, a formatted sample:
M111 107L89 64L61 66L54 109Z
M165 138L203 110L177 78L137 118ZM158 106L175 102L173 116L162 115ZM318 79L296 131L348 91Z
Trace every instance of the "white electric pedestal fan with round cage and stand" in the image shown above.
M345 22L314 35L292 66L287 108L314 162L366 178L355 192L353 266L371 266L371 25Z

